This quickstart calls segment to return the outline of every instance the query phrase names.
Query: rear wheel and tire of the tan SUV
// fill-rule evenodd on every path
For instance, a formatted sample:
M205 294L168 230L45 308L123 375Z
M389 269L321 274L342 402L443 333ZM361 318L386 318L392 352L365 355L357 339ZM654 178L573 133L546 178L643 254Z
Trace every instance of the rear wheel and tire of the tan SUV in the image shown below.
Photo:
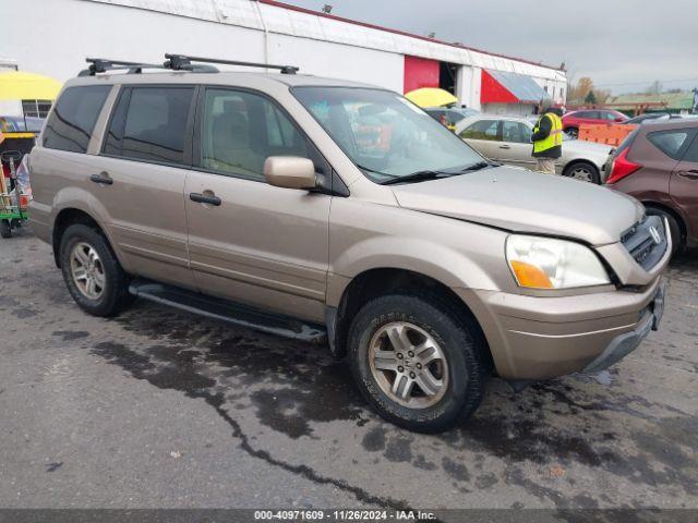
M97 230L82 223L70 226L63 233L59 253L68 291L86 313L109 317L133 302L130 279Z

